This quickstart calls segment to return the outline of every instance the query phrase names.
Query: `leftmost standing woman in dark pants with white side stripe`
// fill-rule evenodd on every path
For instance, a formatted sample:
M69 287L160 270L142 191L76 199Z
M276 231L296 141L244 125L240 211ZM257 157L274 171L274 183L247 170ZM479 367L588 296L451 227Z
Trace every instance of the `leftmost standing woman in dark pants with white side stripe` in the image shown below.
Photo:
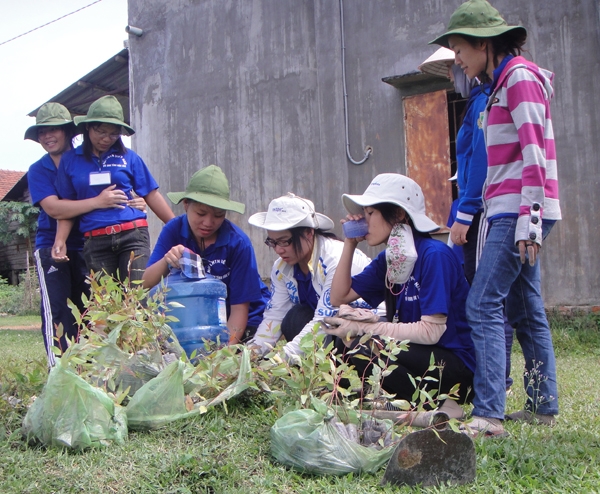
M81 295L89 294L86 283L88 271L81 255L83 235L76 225L65 241L68 262L56 262L51 250L56 235L56 220L74 218L95 209L124 208L133 205L127 196L114 186L102 190L97 197L83 201L59 199L55 186L58 165L62 155L72 149L75 125L69 110L60 103L46 103L36 115L36 124L25 132L25 139L39 142L47 152L27 172L29 192L34 205L41 207L35 241L35 262L40 282L42 334L48 356L48 365L55 362L52 346L67 348L67 339L78 335L75 319L67 306L70 299L83 311ZM143 200L138 201L144 207ZM57 328L62 324L63 335L57 339Z

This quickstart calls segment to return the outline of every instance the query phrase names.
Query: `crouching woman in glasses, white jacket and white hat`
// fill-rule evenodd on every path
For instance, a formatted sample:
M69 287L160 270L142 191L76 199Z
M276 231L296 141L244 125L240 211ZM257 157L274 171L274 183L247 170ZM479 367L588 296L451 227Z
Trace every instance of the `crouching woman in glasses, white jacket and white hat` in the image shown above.
M330 287L343 244L328 232L333 221L317 213L312 201L292 193L273 199L267 212L248 222L267 231L265 244L279 256L271 270L271 300L249 344L267 353L283 335L286 354L300 356L302 337L317 321L337 313ZM369 262L358 251L349 269L360 273Z

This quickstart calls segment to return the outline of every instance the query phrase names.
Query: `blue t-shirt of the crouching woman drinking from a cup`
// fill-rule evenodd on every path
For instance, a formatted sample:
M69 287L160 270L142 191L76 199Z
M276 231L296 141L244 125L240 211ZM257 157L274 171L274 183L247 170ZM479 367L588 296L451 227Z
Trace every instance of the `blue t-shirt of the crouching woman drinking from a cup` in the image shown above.
M418 322L421 316L444 314L446 331L437 346L446 348L475 371L475 348L467 323L465 304L469 284L457 257L439 240L415 235L417 262L404 285L394 285L398 322ZM352 289L371 307L385 298L385 251L373 259L362 273L352 277Z

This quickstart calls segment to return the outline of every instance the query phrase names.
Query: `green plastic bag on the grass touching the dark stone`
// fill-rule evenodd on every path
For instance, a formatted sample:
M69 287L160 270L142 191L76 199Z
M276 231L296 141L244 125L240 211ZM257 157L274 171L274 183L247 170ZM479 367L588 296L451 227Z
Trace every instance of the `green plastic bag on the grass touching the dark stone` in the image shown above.
M385 425L391 438L393 425L385 422L389 422ZM368 447L360 444L362 436L360 425L341 424L330 410L326 414L311 409L294 410L271 428L271 453L280 463L301 472L375 473L388 463L395 445Z

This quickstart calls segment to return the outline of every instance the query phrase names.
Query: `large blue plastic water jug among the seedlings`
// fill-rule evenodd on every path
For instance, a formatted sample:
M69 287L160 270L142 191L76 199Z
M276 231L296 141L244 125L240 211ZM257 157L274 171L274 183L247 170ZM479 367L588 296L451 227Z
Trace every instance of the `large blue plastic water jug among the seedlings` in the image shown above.
M206 278L194 280L172 273L165 278L168 291L166 301L178 302L183 307L169 306L169 315L179 321L170 322L169 326L179 340L188 357L196 350L196 355L205 351L204 341L221 344L229 341L227 330L227 286L220 280L208 275Z

